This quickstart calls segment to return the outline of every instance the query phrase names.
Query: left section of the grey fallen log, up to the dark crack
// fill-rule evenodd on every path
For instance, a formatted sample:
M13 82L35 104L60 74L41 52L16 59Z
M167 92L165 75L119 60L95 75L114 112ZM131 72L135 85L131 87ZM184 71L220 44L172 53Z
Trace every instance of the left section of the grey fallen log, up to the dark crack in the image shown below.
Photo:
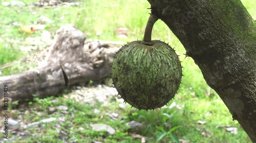
M55 95L65 88L62 69L59 66L34 69L23 73L0 77L0 86L8 87L8 97L12 100L25 101L32 99L32 95L46 97ZM4 88L1 93L4 93ZM4 94L0 95L4 98Z

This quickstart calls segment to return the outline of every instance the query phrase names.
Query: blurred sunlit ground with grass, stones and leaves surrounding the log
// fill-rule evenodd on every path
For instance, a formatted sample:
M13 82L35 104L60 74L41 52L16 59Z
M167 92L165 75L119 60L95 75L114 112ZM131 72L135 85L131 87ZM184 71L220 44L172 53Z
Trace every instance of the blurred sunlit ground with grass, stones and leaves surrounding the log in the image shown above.
M37 66L38 55L52 43L56 30L74 24L87 40L129 42L142 40L151 11L146 1L124 0L22 0L0 1L0 76L20 73ZM256 1L242 3L256 19ZM168 106L155 111L138 111L121 105L119 98L94 104L75 101L74 90L105 87L96 81L69 87L57 97L35 98L26 107L12 104L13 120L26 124L56 118L44 126L19 129L2 142L251 142L214 90L208 87L193 59L172 31L158 20L152 39L172 46L182 61L183 77L178 94ZM86 89L86 90L84 90ZM104 88L104 90L109 90ZM102 92L104 94L104 92ZM68 109L57 108L65 106ZM49 107L56 108L54 113ZM67 113L63 113L67 111ZM114 118L113 118L114 116ZM59 119L63 119L59 121ZM136 127L126 124L136 122ZM133 123L135 123L133 122ZM97 131L92 125L104 124L115 132ZM3 124L0 124L0 127ZM23 132L20 134L20 132Z

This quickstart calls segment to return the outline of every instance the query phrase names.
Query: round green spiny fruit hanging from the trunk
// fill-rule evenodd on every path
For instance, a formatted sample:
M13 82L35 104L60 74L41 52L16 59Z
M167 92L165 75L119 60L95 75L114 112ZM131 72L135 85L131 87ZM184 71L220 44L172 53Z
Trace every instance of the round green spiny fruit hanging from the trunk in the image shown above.
M178 55L168 44L133 41L122 46L112 64L118 93L138 109L155 109L174 98L182 76Z

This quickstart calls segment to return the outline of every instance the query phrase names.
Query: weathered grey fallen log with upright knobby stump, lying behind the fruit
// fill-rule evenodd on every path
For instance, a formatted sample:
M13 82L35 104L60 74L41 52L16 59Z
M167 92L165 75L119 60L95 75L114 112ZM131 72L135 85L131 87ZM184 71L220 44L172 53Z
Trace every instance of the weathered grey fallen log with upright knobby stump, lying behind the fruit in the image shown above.
M98 41L85 47L85 39L73 25L59 28L44 64L23 73L0 77L0 99L4 98L5 85L8 86L8 98L25 102L32 100L33 95L39 98L52 96L69 85L109 76L110 64L118 48L104 48Z

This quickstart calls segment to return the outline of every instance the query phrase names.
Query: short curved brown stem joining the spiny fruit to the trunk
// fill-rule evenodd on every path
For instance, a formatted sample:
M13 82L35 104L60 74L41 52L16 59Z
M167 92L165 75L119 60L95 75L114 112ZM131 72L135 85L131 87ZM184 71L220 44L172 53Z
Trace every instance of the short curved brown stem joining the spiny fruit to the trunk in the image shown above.
M148 18L147 23L146 23L144 38L143 38L144 42L151 41L152 29L157 20L158 20L158 18L156 16L154 16L153 14L151 14L150 18Z

